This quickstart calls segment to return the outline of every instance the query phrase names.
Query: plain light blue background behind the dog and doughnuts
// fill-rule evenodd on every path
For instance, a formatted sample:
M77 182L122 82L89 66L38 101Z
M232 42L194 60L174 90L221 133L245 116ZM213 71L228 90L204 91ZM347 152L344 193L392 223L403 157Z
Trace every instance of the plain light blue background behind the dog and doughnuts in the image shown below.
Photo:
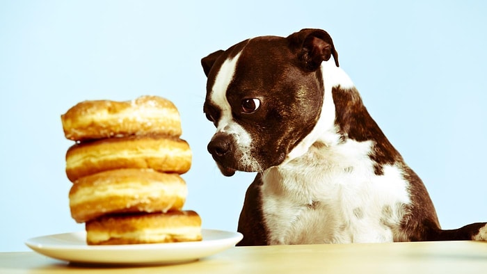
M1 1L0 251L84 229L70 216L60 115L160 95L193 150L185 209L234 230L253 174L206 144L200 58L257 35L326 29L365 105L422 177L442 226L487 220L486 1Z

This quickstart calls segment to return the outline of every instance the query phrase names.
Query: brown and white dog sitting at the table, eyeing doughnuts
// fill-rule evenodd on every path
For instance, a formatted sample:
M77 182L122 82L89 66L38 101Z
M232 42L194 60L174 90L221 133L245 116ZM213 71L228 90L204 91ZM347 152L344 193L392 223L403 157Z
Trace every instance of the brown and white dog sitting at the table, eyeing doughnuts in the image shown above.
M201 60L207 149L222 174L257 172L239 245L487 240L442 230L426 188L362 104L330 35L261 36Z

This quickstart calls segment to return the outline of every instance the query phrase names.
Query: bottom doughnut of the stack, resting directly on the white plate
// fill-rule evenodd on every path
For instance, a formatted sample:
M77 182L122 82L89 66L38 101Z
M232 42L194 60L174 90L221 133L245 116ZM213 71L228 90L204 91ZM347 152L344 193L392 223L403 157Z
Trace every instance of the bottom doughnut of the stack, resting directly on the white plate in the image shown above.
M86 223L88 245L201 241L201 218L195 211L102 216Z

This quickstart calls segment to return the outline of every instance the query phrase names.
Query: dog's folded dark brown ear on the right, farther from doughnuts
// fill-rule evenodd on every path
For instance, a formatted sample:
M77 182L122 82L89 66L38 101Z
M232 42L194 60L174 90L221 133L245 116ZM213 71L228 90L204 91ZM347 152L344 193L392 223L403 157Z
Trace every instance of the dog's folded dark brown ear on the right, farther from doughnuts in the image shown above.
M321 62L330 60L333 56L338 65L338 53L333 45L331 36L321 29L302 29L287 37L289 47L296 50L298 59L306 70L317 70Z

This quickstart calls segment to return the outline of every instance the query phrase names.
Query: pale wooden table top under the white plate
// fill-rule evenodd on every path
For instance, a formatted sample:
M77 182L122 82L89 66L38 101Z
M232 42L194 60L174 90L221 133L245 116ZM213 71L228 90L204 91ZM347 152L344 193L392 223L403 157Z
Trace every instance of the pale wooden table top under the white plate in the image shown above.
M487 243L239 247L166 266L81 266L35 252L0 252L0 273L487 273Z

